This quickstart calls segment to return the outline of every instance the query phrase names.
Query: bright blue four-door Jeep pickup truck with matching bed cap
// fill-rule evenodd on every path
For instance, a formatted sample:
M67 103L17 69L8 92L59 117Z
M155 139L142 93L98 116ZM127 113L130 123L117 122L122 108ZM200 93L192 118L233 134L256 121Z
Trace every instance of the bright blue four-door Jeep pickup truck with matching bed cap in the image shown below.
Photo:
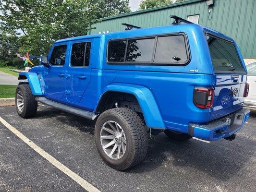
M173 18L170 26L56 41L42 65L20 73L18 114L33 117L40 102L95 120L98 152L118 170L144 159L151 134L235 139L250 112L239 48L228 36Z

